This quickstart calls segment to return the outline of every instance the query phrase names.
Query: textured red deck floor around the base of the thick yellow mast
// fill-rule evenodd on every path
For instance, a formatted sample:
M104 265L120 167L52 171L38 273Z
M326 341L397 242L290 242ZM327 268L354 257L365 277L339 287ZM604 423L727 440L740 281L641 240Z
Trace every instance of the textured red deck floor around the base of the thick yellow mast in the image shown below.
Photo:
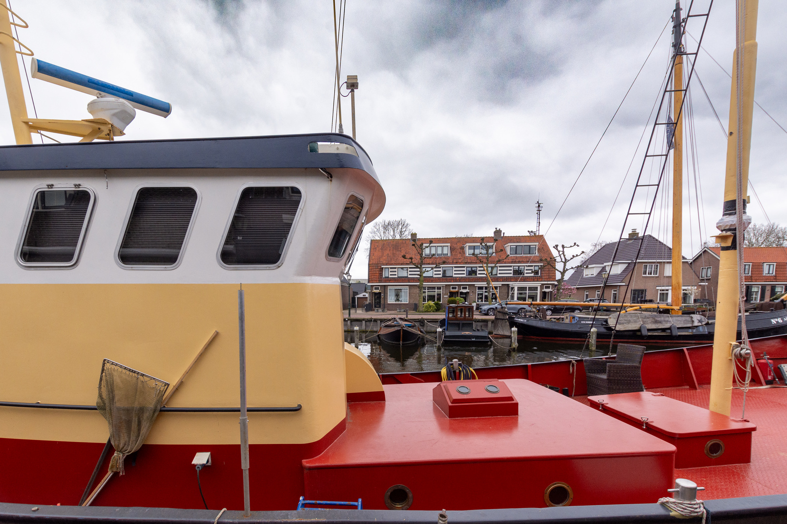
M649 390L708 408L710 387L664 387ZM588 404L586 397L577 397ZM733 390L732 415L741 416L743 393ZM787 388L750 389L746 419L757 426L752 434L752 462L726 466L676 469L674 478L689 478L704 486L700 498L755 497L787 493Z

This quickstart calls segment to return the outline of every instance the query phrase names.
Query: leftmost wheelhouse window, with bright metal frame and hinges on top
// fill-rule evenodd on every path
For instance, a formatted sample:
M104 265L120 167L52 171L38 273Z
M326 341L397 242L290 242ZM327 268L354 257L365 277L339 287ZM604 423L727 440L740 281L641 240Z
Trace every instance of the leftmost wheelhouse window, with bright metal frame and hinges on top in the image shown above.
M79 256L93 193L87 189L39 189L22 236L24 266L73 266Z

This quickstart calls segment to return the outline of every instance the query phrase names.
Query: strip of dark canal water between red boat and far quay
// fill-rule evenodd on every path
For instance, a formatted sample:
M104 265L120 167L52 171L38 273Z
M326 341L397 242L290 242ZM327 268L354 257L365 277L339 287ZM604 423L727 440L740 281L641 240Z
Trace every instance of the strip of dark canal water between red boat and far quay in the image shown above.
M361 337L363 340L363 336ZM346 333L345 340L353 343L353 333ZM496 339L495 343L482 346L444 346L438 350L434 343L423 346L390 346L379 344L375 337L369 336L360 343L360 351L365 354L378 373L434 371L445 365L445 358L458 359L471 368L484 368L497 365L527 364L529 362L556 361L570 357L588 357L588 350L582 351L582 344L546 343L520 339L519 350L508 348L510 339ZM604 354L607 347L597 350Z

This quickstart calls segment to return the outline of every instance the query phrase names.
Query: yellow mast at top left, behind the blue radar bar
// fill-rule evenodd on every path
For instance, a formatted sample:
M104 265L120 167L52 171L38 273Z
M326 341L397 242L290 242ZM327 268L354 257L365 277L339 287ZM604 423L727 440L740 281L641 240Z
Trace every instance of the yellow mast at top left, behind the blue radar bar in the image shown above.
M11 20L6 0L0 0L0 68L2 78L6 83L6 96L8 108L11 111L11 124L13 136L17 144L32 144L30 128L25 122L28 119L28 108L24 104L24 91L22 91L22 77L19 74L17 63L17 49L14 47Z

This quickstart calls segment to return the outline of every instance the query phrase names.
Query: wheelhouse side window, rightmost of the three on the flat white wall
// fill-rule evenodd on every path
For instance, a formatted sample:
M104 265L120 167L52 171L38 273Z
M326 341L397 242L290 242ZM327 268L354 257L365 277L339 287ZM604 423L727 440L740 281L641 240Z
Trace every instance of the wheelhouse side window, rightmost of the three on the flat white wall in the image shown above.
M282 259L301 190L295 187L243 189L221 247L227 266L275 266Z

